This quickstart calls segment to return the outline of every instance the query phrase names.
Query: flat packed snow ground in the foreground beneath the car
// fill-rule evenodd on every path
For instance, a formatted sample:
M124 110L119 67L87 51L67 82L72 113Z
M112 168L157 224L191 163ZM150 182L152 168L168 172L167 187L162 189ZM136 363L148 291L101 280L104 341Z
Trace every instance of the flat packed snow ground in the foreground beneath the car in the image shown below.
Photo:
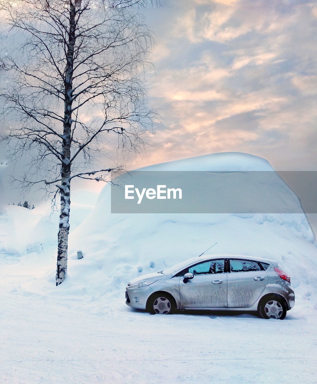
M151 316L123 303L97 315L30 295L20 278L1 287L2 383L316 382L315 313L304 307L284 321Z

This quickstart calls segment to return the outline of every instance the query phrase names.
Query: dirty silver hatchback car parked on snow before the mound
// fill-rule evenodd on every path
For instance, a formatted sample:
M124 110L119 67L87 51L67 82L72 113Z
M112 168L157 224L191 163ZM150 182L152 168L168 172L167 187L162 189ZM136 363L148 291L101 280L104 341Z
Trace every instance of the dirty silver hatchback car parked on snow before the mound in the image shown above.
M176 310L257 311L284 319L293 308L291 278L276 261L241 255L195 257L127 285L126 304L155 314Z

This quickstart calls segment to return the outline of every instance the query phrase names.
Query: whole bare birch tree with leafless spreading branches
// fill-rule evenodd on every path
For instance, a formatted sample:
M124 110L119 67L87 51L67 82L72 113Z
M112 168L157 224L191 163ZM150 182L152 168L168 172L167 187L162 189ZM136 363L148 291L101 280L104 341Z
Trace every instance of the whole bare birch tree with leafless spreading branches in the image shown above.
M53 201L60 194L56 285L67 273L71 180L108 181L111 170L124 166L104 165L111 149L142 151L156 121L140 76L152 46L139 12L146 5L0 0L10 36L0 63L10 118L5 139L13 160L29 159L21 186L43 184Z

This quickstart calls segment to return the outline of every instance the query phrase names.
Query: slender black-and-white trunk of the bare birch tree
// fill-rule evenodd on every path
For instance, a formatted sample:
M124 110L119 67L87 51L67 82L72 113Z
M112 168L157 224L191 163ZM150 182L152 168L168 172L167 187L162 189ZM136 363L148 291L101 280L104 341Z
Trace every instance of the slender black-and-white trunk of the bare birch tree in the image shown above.
M76 10L71 3L69 10L69 34L65 68L65 93L64 93L64 123L63 123L63 145L61 165L61 212L59 215L58 230L58 252L56 269L56 286L61 284L67 275L68 233L69 233L69 211L70 211L70 181L71 181L71 124L73 104L73 66L75 45L75 15Z

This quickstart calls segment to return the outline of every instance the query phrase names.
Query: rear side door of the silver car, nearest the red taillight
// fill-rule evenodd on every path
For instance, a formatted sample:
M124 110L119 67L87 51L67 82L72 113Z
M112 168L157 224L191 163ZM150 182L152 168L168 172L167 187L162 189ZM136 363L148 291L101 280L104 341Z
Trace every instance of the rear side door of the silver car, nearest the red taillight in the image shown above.
M228 308L250 308L258 300L268 281L258 262L229 259Z

